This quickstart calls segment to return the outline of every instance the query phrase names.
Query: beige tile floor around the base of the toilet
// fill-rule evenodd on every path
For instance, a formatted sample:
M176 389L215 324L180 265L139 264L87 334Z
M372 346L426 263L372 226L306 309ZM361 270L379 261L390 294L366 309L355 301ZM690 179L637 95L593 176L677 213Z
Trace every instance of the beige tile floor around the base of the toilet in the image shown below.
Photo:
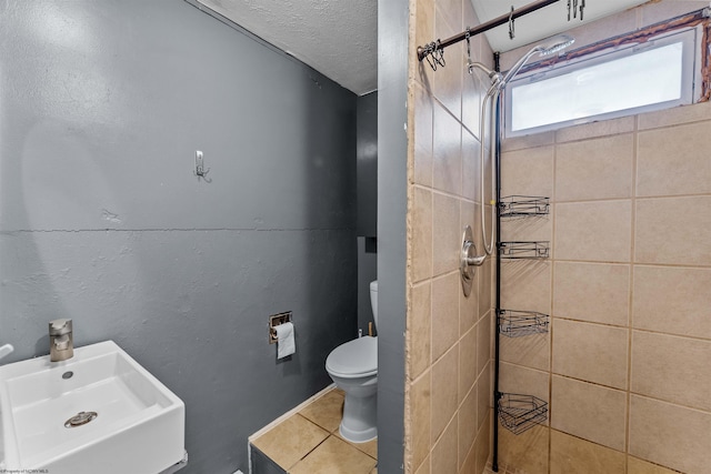
M342 410L343 392L333 389L252 444L289 474L378 474L378 441L343 440Z

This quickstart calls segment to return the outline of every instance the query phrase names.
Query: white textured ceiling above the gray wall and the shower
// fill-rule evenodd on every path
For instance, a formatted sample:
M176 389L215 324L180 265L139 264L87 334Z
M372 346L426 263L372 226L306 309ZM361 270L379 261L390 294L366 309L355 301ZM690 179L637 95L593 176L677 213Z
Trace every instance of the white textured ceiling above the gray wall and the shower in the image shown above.
M358 95L378 88L378 0L198 0ZM388 1L388 0L383 0ZM464 0L468 1L468 0ZM481 22L533 0L471 0ZM593 21L647 0L587 0ZM582 0L579 0L582 2ZM488 31L494 51L509 51L581 24L568 21L567 0ZM444 38L441 38L444 39ZM432 38L435 40L435 38Z

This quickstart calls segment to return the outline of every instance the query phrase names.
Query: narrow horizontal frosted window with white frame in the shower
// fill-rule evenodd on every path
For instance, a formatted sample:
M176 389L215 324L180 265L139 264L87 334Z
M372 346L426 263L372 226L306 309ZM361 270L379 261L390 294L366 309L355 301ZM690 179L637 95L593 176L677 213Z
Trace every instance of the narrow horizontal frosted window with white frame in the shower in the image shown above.
M505 93L507 137L693 101L697 31L582 57L515 78Z

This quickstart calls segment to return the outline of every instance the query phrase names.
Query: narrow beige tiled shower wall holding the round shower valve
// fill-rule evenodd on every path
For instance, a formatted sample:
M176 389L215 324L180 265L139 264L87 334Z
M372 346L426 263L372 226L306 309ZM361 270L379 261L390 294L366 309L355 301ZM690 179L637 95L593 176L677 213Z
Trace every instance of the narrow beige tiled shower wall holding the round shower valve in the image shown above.
M461 291L462 229L479 235L479 101L485 92L463 73L462 44L448 67L417 63L414 48L477 24L469 1L411 2L405 472L481 473L490 451L491 265ZM463 14L461 14L463 12ZM473 38L474 60L492 58ZM477 238L479 239L479 238ZM481 243L477 240L478 249Z

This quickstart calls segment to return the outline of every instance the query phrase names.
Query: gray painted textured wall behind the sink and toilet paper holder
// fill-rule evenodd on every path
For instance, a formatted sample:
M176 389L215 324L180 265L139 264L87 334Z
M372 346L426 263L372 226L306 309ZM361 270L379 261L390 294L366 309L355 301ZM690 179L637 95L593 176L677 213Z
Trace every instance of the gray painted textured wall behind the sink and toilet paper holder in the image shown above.
M182 0L0 2L0 343L44 355L56 317L117 341L186 402L186 474L247 472L331 382L354 229L351 92Z

